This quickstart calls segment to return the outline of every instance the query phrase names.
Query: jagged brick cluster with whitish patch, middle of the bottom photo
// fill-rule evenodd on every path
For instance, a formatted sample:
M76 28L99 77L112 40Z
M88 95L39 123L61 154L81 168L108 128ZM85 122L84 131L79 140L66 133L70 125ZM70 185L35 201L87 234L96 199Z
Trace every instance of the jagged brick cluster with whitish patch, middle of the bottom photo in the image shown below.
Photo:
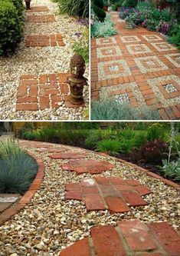
M139 181L118 177L96 177L65 186L65 198L84 200L87 211L106 210L111 214L131 211L129 206L143 206L147 202L142 195L150 194L149 188Z

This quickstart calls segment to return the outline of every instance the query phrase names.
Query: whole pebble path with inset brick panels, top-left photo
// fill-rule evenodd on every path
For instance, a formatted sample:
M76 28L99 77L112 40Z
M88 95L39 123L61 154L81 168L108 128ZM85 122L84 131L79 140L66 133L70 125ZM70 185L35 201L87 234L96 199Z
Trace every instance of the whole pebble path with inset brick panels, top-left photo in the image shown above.
M24 40L15 55L0 57L0 118L84 119L88 86L83 93L85 105L79 108L67 105L61 97L69 92L64 78L74 55L72 45L78 40L76 33L83 32L84 26L75 18L59 15L57 3L50 0L34 0L31 5L31 11L25 11Z

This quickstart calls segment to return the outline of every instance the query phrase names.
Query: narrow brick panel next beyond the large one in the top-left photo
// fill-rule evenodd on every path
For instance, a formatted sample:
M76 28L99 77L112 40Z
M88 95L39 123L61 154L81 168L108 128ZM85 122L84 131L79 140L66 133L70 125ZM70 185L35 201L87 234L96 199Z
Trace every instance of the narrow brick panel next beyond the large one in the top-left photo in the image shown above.
M56 35L28 35L25 40L26 47L64 46L61 34Z

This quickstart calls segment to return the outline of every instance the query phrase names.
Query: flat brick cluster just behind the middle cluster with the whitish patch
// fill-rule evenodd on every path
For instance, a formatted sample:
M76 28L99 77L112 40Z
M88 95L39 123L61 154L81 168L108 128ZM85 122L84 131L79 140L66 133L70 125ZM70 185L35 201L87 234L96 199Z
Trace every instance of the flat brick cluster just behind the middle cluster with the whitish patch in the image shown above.
M76 171L77 174L90 173L98 174L103 171L110 171L114 165L108 161L97 161L91 159L81 159L69 161L67 164L62 165L64 171Z

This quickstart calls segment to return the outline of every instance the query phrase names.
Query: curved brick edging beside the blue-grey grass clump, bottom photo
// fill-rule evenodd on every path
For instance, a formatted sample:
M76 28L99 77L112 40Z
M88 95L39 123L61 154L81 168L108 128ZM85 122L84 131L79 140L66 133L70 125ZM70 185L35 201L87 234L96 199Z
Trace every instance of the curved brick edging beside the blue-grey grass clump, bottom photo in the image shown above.
M31 186L28 188L28 191L26 191L21 200L18 201L17 204L15 204L15 207L12 206L10 208L7 208L5 211L2 211L2 214L0 214L0 224L3 224L5 221L8 221L9 218L14 216L15 214L18 214L18 212L21 211L21 209L25 208L25 206L31 201L31 198L34 197L36 191L38 191L38 189L40 188L41 182L44 180L44 162L41 160L41 158L38 158L30 151L26 152L28 155L30 155L37 161L37 175L34 178L34 181L31 183Z

